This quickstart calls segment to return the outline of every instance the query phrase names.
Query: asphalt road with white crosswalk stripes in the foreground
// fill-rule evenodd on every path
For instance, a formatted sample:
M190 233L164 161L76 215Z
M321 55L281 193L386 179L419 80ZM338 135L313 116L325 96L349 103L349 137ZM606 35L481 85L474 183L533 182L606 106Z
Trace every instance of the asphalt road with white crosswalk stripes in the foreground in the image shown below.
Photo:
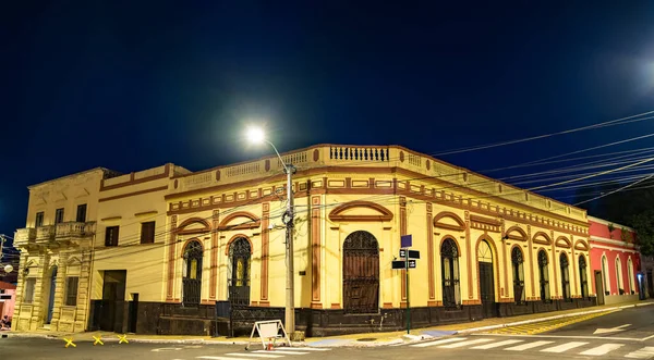
M628 326L623 326L627 325ZM600 331L614 328L615 331ZM545 360L654 359L654 306L626 309L538 335L474 334L420 344L376 348L279 348L274 351L237 345L78 343L64 348L51 339L0 338L0 359L71 360L342 360L342 359L470 359Z

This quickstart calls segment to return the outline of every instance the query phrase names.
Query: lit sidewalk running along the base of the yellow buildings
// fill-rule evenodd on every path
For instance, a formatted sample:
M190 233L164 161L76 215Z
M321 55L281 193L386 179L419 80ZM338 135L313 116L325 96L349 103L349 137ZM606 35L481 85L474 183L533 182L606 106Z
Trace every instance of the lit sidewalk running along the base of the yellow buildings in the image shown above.
M573 315L590 314L603 311L617 311L621 309L650 306L654 305L654 301L633 301L625 302L621 305L610 305L592 307L584 309L572 309L553 311L548 313L535 313L528 315L510 316L510 318L492 318L475 322L441 325L434 327L416 328L412 330L411 334L403 332L387 332L387 333L363 333L363 334L351 334L341 336L329 336L329 337L312 337L306 338L304 342L293 343L294 346L315 346L315 347L371 347L371 346L389 346L408 343L416 343L431 338L438 338L444 336L451 336L455 334L469 334L481 331L489 331L494 328L516 326L529 323L536 323L541 321L562 319ZM94 337L100 337L105 343L118 343L119 336L116 333L110 332L88 332L88 333L58 333L48 331L38 332L0 332L0 335L8 335L9 337L40 337L62 340L63 338L73 338L74 342L95 342ZM128 340L131 343L153 343L153 344L193 344L193 345L245 345L249 342L247 337L210 337L210 336L183 336L183 335L128 335ZM0 339L1 342L2 339Z

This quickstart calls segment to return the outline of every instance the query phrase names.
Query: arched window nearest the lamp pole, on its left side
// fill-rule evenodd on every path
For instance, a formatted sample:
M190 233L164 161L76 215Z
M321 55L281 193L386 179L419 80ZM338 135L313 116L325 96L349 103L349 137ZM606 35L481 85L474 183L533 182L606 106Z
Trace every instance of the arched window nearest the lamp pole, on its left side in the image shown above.
M250 306L250 241L239 237L229 246L229 301L233 306Z

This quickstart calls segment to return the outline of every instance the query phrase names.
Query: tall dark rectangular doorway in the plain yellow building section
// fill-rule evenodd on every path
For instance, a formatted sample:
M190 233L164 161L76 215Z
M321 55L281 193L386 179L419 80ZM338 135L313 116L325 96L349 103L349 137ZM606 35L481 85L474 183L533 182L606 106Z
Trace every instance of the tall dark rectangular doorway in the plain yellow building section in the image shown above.
M104 275L100 330L122 333L126 270L107 270Z

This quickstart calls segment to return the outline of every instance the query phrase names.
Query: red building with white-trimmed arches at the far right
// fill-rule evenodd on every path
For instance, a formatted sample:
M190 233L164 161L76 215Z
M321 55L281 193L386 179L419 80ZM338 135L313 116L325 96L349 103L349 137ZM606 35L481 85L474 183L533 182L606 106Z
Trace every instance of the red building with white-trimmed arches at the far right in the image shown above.
M632 228L589 216L591 270L597 305L639 299L642 286L640 253Z

